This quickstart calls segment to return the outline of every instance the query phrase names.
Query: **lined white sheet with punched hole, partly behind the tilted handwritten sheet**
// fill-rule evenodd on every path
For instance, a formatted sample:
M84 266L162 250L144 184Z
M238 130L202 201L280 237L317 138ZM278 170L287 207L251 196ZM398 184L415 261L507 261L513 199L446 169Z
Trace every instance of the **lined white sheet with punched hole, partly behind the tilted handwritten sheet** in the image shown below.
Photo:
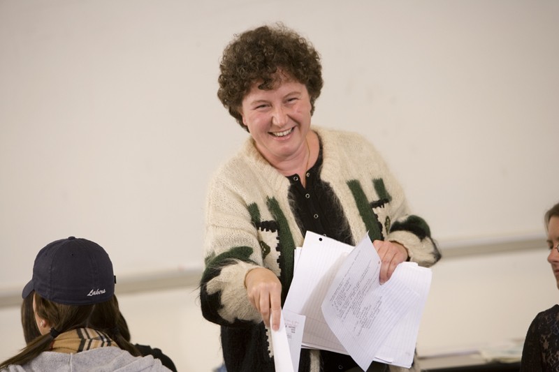
M307 231L284 311L305 315L303 346L347 354L326 324L321 303L337 268L354 247Z

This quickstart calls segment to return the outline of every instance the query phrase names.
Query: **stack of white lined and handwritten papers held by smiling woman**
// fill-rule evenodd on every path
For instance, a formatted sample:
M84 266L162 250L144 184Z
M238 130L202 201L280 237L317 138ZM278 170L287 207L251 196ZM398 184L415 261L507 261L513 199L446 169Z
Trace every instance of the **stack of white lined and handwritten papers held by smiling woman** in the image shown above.
M402 262L381 285L380 266L368 235L353 247L307 232L282 309L289 355L273 338L276 364L289 368L277 371L297 371L301 347L351 355L365 371L374 360L411 366L431 271Z

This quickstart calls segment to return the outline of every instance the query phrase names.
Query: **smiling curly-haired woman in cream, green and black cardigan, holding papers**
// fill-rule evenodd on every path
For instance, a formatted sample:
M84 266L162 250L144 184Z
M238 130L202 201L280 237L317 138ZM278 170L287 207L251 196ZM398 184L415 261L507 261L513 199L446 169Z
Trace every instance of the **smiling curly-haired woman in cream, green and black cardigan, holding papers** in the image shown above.
M217 96L249 137L208 189L201 308L221 326L228 372L275 371L270 327L307 230L351 245L369 232L381 283L400 262L428 267L440 252L372 144L311 125L323 80L309 40L283 24L250 29L226 46L220 70ZM389 368L399 370L368 371ZM303 349L299 371L362 370L349 355Z

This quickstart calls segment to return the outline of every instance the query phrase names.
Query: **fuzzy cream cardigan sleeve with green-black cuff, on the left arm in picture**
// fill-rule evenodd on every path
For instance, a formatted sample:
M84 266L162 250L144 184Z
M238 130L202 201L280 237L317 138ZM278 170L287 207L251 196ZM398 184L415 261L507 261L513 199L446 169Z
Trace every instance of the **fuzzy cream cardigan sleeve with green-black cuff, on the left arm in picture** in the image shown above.
M245 288L247 272L263 266L259 241L245 202L223 178L210 184L205 220L204 318L227 326L261 322Z

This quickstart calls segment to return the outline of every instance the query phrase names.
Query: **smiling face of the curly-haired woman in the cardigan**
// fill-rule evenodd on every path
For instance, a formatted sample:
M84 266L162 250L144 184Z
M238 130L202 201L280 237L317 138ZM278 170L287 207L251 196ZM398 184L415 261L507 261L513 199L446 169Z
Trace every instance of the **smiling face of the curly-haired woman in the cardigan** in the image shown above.
M304 158L312 107L305 84L281 75L273 89L258 85L252 85L240 108L256 149L276 168L284 161Z

